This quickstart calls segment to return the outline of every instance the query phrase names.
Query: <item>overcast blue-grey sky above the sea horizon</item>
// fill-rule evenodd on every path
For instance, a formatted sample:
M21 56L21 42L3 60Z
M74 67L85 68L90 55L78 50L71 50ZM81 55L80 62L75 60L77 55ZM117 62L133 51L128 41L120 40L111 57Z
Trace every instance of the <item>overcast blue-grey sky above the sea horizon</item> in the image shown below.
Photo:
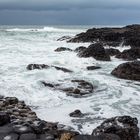
M0 24L126 25L140 23L140 0L0 0Z

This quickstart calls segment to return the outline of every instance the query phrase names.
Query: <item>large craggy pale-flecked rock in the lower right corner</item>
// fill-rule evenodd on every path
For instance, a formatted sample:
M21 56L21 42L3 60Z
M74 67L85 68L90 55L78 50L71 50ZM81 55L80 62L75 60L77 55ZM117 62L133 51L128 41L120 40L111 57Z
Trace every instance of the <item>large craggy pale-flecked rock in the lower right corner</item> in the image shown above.
M93 136L115 134L121 140L139 140L138 120L130 116L118 116L105 120L93 130Z

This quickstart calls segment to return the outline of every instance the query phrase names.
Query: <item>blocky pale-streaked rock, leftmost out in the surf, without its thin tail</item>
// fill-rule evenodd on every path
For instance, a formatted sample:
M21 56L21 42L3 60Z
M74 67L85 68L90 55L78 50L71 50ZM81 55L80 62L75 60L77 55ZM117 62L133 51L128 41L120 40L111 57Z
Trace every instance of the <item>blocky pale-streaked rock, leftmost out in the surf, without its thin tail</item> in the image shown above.
M48 69L49 66L45 64L29 64L27 66L27 70L34 70L34 69Z

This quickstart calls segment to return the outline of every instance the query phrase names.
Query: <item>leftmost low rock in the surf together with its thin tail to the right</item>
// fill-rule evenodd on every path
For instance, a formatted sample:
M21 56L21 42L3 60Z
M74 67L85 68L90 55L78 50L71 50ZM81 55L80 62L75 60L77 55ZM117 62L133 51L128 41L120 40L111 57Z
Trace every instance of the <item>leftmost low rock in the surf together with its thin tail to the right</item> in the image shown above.
M26 69L27 70L34 70L34 69L48 69L48 68L55 68L57 70L61 70L63 72L69 72L71 73L72 71L63 67L58 67L58 66L48 66L45 64L29 64Z

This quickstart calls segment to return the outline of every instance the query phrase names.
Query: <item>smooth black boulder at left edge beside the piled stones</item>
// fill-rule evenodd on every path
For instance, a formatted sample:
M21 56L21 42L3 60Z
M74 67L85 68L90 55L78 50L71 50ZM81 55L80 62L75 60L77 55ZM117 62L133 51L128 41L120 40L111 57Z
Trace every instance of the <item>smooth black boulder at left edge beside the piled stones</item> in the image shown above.
M0 112L0 126L10 123L10 116L5 112Z

